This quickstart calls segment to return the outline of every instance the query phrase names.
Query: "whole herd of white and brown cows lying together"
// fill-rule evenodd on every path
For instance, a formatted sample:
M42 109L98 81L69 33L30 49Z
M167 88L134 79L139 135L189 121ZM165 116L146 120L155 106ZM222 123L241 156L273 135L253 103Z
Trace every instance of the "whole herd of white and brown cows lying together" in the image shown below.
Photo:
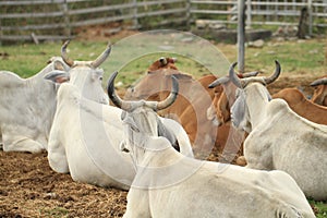
M315 217L307 198L327 199L326 77L310 100L293 88L271 96L278 61L270 76L233 63L225 77L194 80L160 58L122 99L118 72L101 87L111 47L75 61L68 45L33 77L0 71L4 152L47 150L56 172L129 190L124 217ZM232 129L246 132L245 167L198 158L222 153Z

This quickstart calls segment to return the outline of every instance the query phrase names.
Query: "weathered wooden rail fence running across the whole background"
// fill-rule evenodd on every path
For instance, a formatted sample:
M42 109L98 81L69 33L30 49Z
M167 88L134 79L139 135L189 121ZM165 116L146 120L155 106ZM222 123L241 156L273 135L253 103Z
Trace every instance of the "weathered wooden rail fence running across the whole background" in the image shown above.
M246 25L298 25L303 7L310 29L327 27L327 0L244 0ZM64 39L81 26L118 22L121 27L158 28L196 20L237 24L238 0L1 0L0 43ZM171 25L169 26L171 27Z

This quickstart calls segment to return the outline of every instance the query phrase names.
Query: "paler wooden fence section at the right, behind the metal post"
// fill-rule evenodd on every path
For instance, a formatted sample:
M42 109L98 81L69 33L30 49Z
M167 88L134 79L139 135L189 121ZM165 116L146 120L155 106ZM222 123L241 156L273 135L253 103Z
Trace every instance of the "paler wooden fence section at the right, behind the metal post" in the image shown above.
M327 27L327 0L244 0L246 26L298 25L301 10L308 10L310 34ZM238 0L190 0L193 17L211 23L237 24Z

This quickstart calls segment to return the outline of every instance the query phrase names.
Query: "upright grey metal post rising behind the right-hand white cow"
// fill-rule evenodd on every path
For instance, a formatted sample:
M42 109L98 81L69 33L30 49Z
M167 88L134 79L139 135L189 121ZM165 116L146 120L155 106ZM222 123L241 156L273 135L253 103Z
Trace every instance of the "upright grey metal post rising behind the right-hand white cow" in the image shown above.
M239 72L244 73L244 43L245 43L245 2L238 1L238 65Z

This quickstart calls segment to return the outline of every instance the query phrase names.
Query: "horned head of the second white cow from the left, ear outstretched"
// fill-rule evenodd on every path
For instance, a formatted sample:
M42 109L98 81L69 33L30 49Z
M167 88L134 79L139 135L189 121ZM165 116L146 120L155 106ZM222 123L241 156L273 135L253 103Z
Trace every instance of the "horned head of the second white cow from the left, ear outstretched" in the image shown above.
M108 45L107 49L94 61L73 61L66 55L66 47L69 41L61 48L62 60L70 66L65 71L52 71L46 75L47 80L56 83L70 81L82 92L82 95L90 100L109 104L108 96L105 94L101 83L104 70L98 66L108 58L111 47Z

